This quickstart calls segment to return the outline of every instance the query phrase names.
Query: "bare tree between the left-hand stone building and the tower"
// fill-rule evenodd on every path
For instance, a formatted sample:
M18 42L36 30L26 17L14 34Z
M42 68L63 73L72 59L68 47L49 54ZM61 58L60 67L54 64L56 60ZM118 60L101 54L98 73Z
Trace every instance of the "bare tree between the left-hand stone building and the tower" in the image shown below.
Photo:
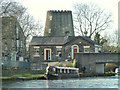
M33 16L30 16L28 13L25 13L23 17L19 19L21 27L23 29L25 38L29 42L31 36L41 36L42 25L39 21L35 21Z

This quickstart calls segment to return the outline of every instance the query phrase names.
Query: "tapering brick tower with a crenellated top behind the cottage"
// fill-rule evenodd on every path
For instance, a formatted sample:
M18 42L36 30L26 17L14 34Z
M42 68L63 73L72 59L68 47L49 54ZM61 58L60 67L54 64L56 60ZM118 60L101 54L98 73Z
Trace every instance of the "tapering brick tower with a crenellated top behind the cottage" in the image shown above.
M44 36L74 36L72 11L48 11Z

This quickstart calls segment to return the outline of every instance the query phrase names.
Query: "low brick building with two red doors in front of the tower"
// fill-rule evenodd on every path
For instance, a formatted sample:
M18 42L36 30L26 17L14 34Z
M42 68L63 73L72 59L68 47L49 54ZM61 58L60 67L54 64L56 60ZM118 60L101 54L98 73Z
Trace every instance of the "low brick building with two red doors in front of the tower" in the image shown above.
M30 43L30 59L33 62L71 60L74 59L74 53L97 53L100 49L100 45L83 36L33 37Z

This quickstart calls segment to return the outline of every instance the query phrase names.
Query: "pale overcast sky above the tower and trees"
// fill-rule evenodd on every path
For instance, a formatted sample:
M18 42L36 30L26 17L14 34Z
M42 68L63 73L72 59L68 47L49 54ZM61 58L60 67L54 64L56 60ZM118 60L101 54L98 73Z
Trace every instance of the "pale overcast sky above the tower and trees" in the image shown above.
M36 20L42 20L45 26L47 10L72 10L75 3L95 3L106 12L113 15L112 30L118 28L118 1L119 0L16 0L28 8L28 12Z

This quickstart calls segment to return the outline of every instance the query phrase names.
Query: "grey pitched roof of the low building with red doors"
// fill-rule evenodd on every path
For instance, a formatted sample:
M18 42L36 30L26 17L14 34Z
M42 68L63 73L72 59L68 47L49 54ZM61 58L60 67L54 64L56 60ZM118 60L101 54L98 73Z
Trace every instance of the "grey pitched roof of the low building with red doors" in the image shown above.
M69 36L69 37L51 37L51 36L34 36L32 38L32 41L30 43L30 45L64 45L66 43L72 42L78 38L82 38L85 41L88 41L92 44L97 44L99 45L97 42L91 40L88 37L84 37L84 36Z

